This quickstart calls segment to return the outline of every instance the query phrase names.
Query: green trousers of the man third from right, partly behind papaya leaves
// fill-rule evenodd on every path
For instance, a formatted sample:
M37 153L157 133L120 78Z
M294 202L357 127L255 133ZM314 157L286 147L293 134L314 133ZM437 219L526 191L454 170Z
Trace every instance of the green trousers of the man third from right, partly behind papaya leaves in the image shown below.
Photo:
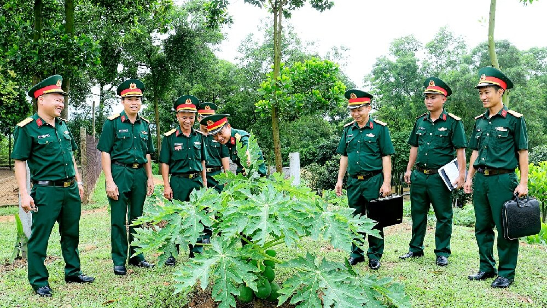
M370 179L359 180L351 175L347 178L347 203L350 208L354 209L353 215L365 215L367 206L370 200L377 199L380 196L380 187L383 183L383 174L376 174ZM374 227L380 230L380 236L368 236L369 249L366 256L369 259L380 260L383 254L383 228ZM351 254L353 258L362 258L363 250L359 249L355 244L351 246Z

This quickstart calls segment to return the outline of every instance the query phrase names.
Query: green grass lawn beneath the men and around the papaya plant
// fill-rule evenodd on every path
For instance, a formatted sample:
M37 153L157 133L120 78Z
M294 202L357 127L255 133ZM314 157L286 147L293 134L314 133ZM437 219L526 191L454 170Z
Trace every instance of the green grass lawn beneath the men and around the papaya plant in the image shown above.
M181 294L172 295L171 273L188 260L188 253L178 257L175 268L155 267L152 270L128 267L134 272L116 276L110 260L110 227L104 196L104 180L97 184L94 203L96 210L85 213L80 220L80 258L86 275L96 278L93 284L66 284L63 280L63 260L59 244L59 232L51 233L46 264L49 282L55 295L45 299L33 295L27 280L25 264L6 265L15 241L15 224L1 223L0 227L0 307L183 307L188 304ZM434 228L426 235L424 258L399 260L406 253L410 239L410 219L386 229L386 247L381 260L382 267L374 273L381 277L393 277L405 284L412 307L547 307L547 247L522 243L515 283L509 289L492 289L493 281L468 281L467 275L478 271L479 255L470 227L454 226L452 256L449 266L435 265ZM305 253L317 252L330 260L342 261L347 254L334 250L325 242L302 241L299 249L276 249L282 259ZM155 261L156 256L147 256ZM365 263L358 265L361 271L370 271ZM276 267L276 277L292 274L288 269Z

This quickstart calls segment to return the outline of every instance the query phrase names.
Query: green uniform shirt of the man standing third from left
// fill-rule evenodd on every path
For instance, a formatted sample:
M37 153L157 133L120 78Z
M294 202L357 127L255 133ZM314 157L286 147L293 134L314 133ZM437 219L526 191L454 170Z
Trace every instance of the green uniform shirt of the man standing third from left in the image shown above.
M164 135L158 160L169 165L170 173L201 172L201 161L206 157L204 137L194 128L189 136L183 134L180 127L173 128Z

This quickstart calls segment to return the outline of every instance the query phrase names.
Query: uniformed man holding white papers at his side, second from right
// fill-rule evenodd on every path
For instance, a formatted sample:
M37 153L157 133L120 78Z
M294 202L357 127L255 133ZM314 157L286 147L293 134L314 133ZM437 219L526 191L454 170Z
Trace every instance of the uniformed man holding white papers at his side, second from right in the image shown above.
M450 238L452 236L452 191L448 189L438 169L454 159L456 150L459 175L452 183L463 187L465 179L465 147L467 140L461 118L446 112L444 104L452 94L450 87L437 77L424 82L424 102L428 112L419 116L410 133L409 163L404 175L410 186L412 238L409 252L401 259L423 256L423 239L426 236L427 213L430 204L437 217L435 229L435 263L448 265ZM416 167L412 172L412 167Z

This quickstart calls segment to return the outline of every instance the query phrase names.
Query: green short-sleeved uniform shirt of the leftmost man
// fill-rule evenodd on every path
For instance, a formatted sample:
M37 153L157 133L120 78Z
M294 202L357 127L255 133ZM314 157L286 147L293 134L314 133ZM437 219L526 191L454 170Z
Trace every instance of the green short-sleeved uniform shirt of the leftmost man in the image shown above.
M72 152L77 149L65 121L55 118L53 127L34 113L15 127L11 158L28 161L33 181L58 181L76 174Z

